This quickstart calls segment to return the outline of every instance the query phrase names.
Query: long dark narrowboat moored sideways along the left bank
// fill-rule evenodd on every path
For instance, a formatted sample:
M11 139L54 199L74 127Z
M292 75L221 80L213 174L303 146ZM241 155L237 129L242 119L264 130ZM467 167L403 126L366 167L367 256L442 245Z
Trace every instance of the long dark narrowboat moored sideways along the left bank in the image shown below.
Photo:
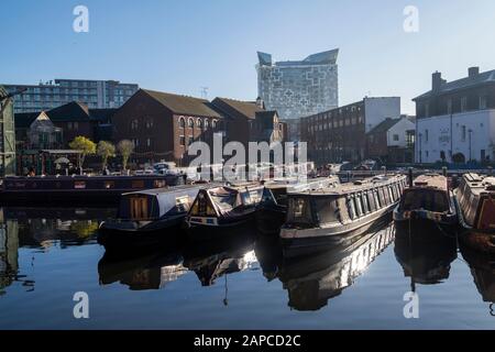
M32 176L6 177L0 185L0 204L9 206L112 205L120 195L184 184L178 175L142 176Z

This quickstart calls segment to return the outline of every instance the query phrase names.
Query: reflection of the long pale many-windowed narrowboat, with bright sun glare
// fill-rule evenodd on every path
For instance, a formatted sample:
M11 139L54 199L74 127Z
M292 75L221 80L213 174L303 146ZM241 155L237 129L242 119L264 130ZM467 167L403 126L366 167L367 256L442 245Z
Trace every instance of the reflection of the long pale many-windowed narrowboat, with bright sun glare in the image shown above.
M394 228L389 224L365 234L350 246L284 262L278 277L288 290L288 305L297 310L324 307L328 299L351 286L393 240Z

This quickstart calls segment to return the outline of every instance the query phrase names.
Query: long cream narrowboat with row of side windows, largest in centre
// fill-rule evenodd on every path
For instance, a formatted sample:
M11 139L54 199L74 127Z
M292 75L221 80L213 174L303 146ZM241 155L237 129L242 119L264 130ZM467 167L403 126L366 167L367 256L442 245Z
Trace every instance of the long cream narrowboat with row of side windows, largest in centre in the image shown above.
M386 220L405 187L406 176L381 175L330 189L290 193L287 221L280 230L283 245L293 252L297 248L312 251L316 244L326 248L358 239Z

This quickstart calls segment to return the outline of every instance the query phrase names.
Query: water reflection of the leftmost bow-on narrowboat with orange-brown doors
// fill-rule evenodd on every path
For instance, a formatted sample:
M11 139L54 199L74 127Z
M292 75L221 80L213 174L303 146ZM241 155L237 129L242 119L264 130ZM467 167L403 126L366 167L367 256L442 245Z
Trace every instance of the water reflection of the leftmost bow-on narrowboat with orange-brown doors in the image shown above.
M119 282L131 290L158 289L187 273L178 253L148 253L118 258L106 253L98 263L101 285Z

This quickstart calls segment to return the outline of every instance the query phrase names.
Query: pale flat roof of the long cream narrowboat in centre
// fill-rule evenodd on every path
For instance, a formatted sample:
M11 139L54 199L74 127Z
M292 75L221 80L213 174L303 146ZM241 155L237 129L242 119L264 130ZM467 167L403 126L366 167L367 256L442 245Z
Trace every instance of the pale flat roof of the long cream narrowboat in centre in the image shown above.
M405 175L380 175L374 177L364 178L362 180L356 180L353 183L340 184L333 188L321 188L321 189L307 189L301 191L290 193L292 196L332 196L332 195L345 195L350 193L367 190L372 187L384 186L398 182L399 179L405 179Z

